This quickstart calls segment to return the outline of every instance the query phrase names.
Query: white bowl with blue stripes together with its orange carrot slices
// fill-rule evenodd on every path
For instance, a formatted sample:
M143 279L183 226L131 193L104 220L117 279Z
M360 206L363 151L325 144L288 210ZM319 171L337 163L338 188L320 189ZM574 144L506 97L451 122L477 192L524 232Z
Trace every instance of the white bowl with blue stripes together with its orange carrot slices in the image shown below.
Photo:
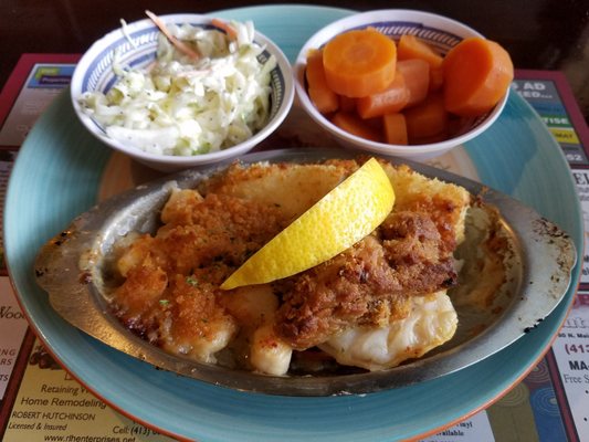
M514 67L504 48L457 21L378 10L315 33L294 74L299 105L339 144L423 160L497 119Z

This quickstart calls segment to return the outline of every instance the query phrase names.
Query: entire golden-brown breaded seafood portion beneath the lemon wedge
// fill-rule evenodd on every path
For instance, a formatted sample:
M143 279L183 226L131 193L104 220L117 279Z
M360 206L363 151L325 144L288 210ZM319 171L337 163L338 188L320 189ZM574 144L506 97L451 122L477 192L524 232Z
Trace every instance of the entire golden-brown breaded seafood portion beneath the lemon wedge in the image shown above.
M229 346L246 368L275 375L286 372L293 349L319 346L341 364L381 369L448 340L456 322L443 296L456 283L452 254L464 236L470 196L406 166L382 161L396 192L393 210L353 248L272 284L219 290L360 165L234 164L196 190L175 191L155 236L122 241L118 270L125 281L115 293L117 315L167 351L214 361ZM417 334L410 350L382 350L382 343L395 341L395 325L414 332L409 324L432 323L437 312L445 319ZM370 346L358 350L375 330L378 357Z

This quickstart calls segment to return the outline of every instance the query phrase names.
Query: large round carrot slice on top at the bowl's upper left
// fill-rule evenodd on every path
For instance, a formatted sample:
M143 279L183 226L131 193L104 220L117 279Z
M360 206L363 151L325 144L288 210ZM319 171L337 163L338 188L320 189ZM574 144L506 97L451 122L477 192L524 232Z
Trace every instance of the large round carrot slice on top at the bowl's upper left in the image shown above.
M334 92L362 97L383 91L392 82L397 46L372 28L348 31L325 45L323 63Z

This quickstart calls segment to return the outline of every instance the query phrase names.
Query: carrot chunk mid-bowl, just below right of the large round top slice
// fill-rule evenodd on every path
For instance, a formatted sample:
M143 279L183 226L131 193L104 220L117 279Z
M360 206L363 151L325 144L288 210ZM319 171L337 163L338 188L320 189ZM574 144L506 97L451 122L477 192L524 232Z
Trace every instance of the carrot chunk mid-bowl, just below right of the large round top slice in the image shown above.
M361 118L374 118L399 112L408 102L409 91L404 77L397 72L395 80L385 91L357 98L356 109Z

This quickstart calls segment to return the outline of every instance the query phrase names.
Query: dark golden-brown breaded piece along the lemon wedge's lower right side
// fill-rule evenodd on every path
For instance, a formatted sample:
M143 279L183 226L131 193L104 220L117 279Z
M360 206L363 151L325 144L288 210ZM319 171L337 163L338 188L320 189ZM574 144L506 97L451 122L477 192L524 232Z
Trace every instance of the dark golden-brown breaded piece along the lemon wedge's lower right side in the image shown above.
M282 282L276 329L293 347L319 345L355 326L387 326L410 314L412 296L455 284L452 254L464 238L470 194L406 166L386 170L396 203L374 234Z

